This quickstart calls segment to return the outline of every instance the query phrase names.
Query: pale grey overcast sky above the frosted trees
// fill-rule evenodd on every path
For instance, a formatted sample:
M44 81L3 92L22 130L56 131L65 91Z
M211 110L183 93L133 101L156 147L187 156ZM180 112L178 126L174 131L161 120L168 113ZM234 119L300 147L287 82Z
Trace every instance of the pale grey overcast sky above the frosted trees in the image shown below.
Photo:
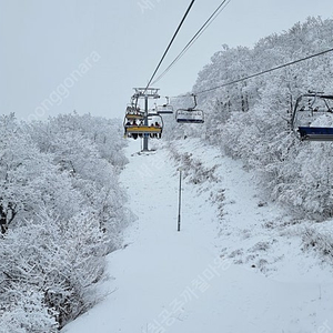
M132 88L148 83L190 2L0 0L0 113L122 118ZM160 73L221 2L194 2ZM161 95L188 92L222 44L253 47L310 16L333 18L332 0L231 0L157 88Z

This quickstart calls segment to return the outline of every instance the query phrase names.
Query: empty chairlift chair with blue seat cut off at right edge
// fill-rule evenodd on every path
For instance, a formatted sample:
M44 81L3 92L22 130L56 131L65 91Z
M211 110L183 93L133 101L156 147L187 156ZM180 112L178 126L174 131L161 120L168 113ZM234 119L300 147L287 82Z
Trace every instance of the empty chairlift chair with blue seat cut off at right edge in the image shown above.
M321 121L323 115L329 115L330 119L322 121L333 124L333 95L322 92L302 94L297 98L292 114L292 130L302 141L333 141L333 125L312 125L314 121Z

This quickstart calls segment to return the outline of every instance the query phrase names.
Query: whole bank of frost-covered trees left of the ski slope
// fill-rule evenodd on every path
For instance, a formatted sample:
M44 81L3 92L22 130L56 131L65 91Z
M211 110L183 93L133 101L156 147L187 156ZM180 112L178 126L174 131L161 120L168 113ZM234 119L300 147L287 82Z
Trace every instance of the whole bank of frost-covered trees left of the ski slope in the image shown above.
M57 332L97 302L130 220L121 124L0 117L0 332Z

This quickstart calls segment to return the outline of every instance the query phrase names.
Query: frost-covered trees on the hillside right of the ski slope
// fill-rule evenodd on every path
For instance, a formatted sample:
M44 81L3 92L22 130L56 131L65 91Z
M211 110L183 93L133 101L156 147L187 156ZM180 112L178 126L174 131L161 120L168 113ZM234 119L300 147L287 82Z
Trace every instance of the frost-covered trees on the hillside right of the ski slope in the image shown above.
M262 38L253 48L223 46L200 71L193 92L327 50L333 46L332 30L333 20L307 18L289 31ZM171 137L201 135L254 170L268 195L296 219L322 221L333 215L332 142L301 142L290 123L296 99L309 91L333 93L332 52L199 93L205 124L173 124ZM181 107L183 100L178 100ZM324 121L332 127L332 118Z

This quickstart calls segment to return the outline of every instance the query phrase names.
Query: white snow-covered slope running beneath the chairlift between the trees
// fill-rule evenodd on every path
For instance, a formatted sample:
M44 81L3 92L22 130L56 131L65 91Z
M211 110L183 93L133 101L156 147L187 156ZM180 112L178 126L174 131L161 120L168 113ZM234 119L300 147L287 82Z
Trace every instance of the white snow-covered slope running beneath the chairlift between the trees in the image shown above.
M332 268L302 250L301 226L262 198L241 163L199 140L173 144L215 167L196 184L195 171L183 171L178 232L182 162L153 144L138 154L132 141L127 151L121 181L138 219L108 258L108 295L62 332L333 332Z

